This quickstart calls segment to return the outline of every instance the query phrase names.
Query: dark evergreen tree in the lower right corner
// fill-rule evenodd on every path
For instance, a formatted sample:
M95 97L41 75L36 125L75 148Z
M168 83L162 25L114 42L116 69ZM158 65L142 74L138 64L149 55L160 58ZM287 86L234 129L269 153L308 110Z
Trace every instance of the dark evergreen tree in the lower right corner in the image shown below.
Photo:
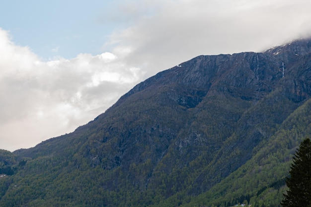
M311 141L305 139L293 157L283 207L311 207Z

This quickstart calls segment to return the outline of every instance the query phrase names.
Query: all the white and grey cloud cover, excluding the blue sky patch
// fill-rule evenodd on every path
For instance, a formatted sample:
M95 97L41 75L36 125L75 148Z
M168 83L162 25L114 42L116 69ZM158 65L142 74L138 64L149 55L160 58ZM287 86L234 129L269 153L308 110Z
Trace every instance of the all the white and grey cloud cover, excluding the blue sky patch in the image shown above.
M197 55L260 52L307 37L310 9L309 0L116 0L94 20L116 28L101 54L49 61L0 29L0 148L69 133L138 82Z

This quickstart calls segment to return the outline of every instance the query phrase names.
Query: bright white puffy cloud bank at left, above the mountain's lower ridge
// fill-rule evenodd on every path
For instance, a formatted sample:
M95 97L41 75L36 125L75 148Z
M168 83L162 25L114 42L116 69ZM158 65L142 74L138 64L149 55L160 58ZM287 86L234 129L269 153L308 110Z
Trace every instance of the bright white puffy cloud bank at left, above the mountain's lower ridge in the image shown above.
M0 146L33 147L95 118L142 78L118 54L42 61L0 29Z

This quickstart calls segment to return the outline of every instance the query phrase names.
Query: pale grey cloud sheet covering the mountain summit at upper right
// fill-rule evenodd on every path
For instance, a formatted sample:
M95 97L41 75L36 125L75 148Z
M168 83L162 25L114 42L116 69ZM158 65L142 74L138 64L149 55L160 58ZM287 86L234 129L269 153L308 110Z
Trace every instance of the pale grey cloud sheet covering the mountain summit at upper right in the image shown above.
M113 33L103 46L130 50L126 61L145 68L146 77L197 55L261 52L311 34L308 0L173 0L150 6L157 6L156 14Z

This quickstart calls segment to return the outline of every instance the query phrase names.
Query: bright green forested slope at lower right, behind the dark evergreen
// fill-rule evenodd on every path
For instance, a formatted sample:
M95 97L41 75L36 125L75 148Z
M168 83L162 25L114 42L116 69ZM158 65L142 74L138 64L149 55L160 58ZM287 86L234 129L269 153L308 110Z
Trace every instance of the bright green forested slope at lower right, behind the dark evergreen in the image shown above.
M245 200L255 207L280 206L292 157L303 138L310 135L311 100L308 100L277 126L270 139L254 149L250 160L184 206L233 206Z

